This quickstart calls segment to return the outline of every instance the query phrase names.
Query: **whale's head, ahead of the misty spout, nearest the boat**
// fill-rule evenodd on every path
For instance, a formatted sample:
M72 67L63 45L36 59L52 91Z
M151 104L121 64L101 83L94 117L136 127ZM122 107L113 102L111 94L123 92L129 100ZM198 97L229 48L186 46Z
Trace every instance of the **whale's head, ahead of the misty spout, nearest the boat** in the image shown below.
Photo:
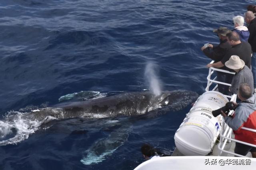
M164 91L158 97L159 106L170 106L174 110L184 108L195 102L198 98L196 92L188 90Z

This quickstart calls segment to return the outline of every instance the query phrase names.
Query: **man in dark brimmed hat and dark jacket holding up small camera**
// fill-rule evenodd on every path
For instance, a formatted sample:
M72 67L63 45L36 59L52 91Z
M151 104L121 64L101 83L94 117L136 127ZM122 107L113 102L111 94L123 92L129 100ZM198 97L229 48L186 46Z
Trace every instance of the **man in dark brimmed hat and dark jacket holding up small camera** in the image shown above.
M219 62L223 59L223 57L226 55L228 49L231 48L231 45L228 43L226 34L230 33L231 31L227 27L219 27L218 29L214 29L213 32L218 34L218 37L220 39L220 44L218 45L212 45L208 44L208 47L202 47L201 50L204 52L204 54L214 60L214 63ZM223 69L222 67L221 69ZM224 82L226 79L226 73L224 72L218 72L217 71L217 81ZM225 86L223 84L218 84L218 91L225 94L225 92L228 92L228 86Z

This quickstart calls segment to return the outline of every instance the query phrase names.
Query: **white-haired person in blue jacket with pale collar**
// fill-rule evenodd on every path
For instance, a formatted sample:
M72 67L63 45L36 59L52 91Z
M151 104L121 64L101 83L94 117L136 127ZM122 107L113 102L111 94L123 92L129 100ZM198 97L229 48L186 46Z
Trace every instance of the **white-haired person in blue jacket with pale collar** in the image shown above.
M248 41L250 32L246 26L244 26L244 17L235 16L233 18L234 29L232 31L236 31L240 37L240 41Z

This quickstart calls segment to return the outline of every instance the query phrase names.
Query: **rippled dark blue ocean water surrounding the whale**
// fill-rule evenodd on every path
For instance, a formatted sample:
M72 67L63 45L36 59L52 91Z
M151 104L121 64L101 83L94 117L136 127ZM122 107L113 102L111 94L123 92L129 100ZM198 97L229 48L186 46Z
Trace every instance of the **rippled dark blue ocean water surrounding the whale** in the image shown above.
M19 135L0 146L0 169L130 170L144 161L143 143L171 154L190 106L44 125L20 115L62 101L145 89L202 94L210 59L200 48L218 43L212 29L231 29L232 17L243 16L253 3L1 0L0 144ZM102 150L108 152L95 156Z

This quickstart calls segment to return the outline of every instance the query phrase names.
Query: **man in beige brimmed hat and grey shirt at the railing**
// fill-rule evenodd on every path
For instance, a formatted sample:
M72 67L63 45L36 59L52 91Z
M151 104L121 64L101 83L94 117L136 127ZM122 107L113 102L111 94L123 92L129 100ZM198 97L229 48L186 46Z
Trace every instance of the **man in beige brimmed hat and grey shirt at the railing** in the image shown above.
M225 66L236 72L232 79L231 87L229 88L230 92L237 94L241 83L247 83L251 89L254 89L252 71L237 55L232 55L230 59L226 61ZM252 94L253 92L252 90Z

